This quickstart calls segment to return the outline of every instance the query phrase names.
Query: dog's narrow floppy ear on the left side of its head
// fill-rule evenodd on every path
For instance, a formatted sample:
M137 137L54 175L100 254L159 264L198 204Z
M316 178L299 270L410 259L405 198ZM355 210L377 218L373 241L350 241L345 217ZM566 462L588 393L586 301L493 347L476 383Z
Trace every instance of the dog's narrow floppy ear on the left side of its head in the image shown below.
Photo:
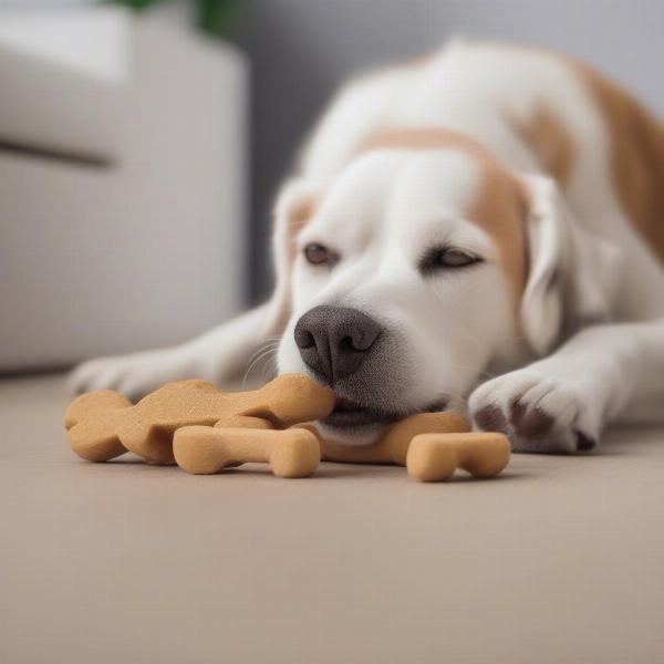
M298 235L313 216L324 184L295 178L279 193L274 205L272 256L274 258L274 292L269 302L270 333L281 334L291 313L291 273L297 256Z

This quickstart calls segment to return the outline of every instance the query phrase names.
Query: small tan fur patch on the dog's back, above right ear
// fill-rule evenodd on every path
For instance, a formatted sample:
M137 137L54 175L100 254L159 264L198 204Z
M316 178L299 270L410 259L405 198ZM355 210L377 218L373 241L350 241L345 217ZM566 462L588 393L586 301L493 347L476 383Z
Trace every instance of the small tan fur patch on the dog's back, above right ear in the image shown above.
M568 183L574 163L575 145L557 114L540 103L527 121L511 121L537 155L542 169L561 186Z

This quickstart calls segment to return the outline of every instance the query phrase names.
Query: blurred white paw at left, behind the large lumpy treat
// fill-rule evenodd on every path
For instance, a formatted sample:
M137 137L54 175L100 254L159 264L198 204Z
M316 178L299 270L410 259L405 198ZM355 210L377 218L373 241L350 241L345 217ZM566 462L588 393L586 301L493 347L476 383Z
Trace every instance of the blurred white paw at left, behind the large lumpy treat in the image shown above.
M83 362L70 374L69 385L77 394L116 390L135 401L170 381L199 377L195 370L178 350L148 351Z

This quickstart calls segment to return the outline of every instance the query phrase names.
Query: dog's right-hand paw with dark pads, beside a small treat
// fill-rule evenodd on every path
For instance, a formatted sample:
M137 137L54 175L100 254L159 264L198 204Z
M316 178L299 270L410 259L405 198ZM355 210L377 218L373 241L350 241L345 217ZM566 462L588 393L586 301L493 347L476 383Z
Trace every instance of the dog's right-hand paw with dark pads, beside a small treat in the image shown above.
M515 452L569 454L596 446L600 414L572 381L529 370L480 385L470 396L476 426L507 434Z

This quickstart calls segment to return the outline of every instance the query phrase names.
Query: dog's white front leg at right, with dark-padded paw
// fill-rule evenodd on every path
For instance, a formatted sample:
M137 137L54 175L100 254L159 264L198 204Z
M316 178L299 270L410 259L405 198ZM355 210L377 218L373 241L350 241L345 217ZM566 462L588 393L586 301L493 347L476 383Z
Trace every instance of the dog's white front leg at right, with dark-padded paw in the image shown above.
M478 428L502 430L515 452L592 449L608 422L664 409L664 320L587 328L552 355L471 394Z

